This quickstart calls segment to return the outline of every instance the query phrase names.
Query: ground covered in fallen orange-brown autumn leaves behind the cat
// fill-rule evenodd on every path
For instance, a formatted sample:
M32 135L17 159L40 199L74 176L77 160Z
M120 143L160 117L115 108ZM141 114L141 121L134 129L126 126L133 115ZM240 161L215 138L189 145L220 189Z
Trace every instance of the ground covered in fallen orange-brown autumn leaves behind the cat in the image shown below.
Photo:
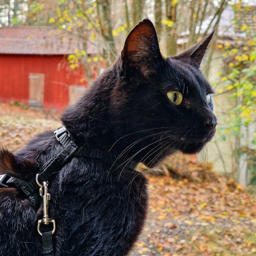
M56 117L0 103L0 143L16 151L58 128ZM163 165L169 175L148 176L148 218L132 256L256 255L256 197L211 169L178 157Z

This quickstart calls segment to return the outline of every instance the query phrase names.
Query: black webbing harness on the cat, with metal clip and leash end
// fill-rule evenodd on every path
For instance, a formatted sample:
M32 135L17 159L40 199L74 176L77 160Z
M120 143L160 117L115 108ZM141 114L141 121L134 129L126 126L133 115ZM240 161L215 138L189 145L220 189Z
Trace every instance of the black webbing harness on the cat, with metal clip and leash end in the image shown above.
M0 187L5 188L18 188L31 200L35 210L38 209L40 200L43 200L44 206L44 217L41 220L38 220L38 233L42 236L43 244L43 255L53 256L53 243L52 243L52 234L56 230L55 221L48 217L48 201L50 200L50 194L47 192L48 181L53 176L54 173L59 171L67 162L73 157L89 157L89 158L98 158L98 159L109 159L106 157L106 154L98 149L91 149L85 146L77 146L70 137L68 130L63 126L54 131L56 139L63 146L63 150L47 161L39 170L39 173L31 181L27 182L20 178L10 176L8 174L0 174ZM115 161L114 164L120 166L125 166L128 169L135 170L138 165L137 162L131 160ZM117 167L117 168L118 168ZM39 193L38 193L39 186ZM41 198L41 199L40 199ZM40 225L44 223L48 225L49 223L53 224L53 230L49 232L40 231Z

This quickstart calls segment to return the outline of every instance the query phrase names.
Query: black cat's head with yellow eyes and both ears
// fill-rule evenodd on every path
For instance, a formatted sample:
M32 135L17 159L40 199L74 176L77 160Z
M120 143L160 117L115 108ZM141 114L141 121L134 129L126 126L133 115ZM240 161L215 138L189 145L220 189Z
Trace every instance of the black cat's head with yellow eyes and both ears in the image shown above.
M155 143L149 149L158 145L162 153L174 149L192 154L213 138L214 92L199 69L212 35L166 58L150 20L144 19L128 35L119 60L122 83L114 89L114 100L122 103L115 111L130 131L145 130L147 144Z

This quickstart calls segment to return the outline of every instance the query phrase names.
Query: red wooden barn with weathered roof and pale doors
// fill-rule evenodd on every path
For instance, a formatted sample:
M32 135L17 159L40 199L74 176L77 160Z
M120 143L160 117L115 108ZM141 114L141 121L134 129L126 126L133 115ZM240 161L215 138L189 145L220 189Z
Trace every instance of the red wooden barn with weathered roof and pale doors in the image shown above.
M83 67L69 68L75 49L82 44L64 31L0 27L0 101L56 110L74 103L87 87Z

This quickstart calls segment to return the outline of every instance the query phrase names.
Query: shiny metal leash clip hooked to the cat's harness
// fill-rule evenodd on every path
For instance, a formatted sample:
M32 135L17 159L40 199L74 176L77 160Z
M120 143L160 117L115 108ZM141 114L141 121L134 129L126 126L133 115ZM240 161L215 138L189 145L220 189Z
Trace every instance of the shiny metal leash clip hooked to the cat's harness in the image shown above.
M43 216L43 219L38 220L37 231L42 236L42 233L40 231L41 223L44 223L44 225L48 225L49 223L52 223L53 224L52 234L54 234L54 232L56 230L55 220L48 217L48 207L49 207L48 201L50 200L50 194L47 193L48 181L47 182L43 181L43 184L41 185L40 182L38 181L38 176L39 176L39 174L37 174L35 180L36 180L38 186L40 187L39 192L40 192L41 197L43 198L44 216Z

